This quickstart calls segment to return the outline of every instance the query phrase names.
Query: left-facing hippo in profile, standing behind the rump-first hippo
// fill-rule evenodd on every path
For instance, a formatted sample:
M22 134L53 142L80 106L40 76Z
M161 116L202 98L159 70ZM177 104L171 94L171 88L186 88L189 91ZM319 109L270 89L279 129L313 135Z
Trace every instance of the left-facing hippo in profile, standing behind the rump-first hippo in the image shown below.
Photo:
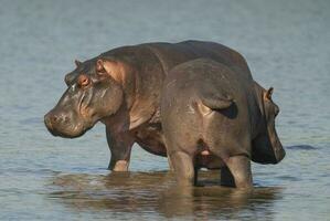
M252 78L242 55L213 42L117 48L85 62L75 62L76 69L65 76L67 90L45 115L45 125L54 136L74 138L97 122L104 123L111 152L108 168L115 171L128 170L134 143L151 154L166 157L160 124L163 81L173 66L200 57L212 59ZM273 149L254 151L254 161L278 161Z

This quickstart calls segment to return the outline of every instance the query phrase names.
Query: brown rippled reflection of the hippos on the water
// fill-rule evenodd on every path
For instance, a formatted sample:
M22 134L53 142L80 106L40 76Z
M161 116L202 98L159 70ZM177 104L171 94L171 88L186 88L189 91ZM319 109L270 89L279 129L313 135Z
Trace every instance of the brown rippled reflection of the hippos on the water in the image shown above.
M281 197L279 188L244 191L220 187L219 171L201 172L204 187L182 189L173 180L169 172L62 175L54 178L56 190L50 197L77 210L106 210L115 215L123 212L158 213L164 218L193 215L202 220L246 215L272 219L273 202Z

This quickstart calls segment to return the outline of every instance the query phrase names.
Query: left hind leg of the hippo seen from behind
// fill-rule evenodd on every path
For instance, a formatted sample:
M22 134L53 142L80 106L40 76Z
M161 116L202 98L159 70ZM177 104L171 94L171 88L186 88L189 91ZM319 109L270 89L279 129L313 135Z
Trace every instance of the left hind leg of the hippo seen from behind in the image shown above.
M182 186L194 185L194 166L190 155L184 151L174 151L170 156L175 178Z

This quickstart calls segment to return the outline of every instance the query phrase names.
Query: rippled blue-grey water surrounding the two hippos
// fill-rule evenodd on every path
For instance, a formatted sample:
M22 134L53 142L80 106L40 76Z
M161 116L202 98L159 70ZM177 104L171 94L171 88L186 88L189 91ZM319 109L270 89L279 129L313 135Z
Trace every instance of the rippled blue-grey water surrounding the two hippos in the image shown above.
M297 1L0 1L0 220L329 220L330 3ZM98 124L52 137L43 115L74 60L125 44L200 39L245 55L274 86L287 156L253 165L254 190L203 172L179 190L164 158L136 146L131 172L106 170Z

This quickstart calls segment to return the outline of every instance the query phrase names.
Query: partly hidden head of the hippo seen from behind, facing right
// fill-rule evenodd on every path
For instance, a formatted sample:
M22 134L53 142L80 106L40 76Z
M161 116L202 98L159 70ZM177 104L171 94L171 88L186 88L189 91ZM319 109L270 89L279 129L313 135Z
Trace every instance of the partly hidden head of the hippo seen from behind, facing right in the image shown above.
M285 157L285 150L275 129L275 118L279 113L278 106L272 99L273 87L263 90L260 108L263 123L259 134L253 140L253 160L257 162L277 164Z

